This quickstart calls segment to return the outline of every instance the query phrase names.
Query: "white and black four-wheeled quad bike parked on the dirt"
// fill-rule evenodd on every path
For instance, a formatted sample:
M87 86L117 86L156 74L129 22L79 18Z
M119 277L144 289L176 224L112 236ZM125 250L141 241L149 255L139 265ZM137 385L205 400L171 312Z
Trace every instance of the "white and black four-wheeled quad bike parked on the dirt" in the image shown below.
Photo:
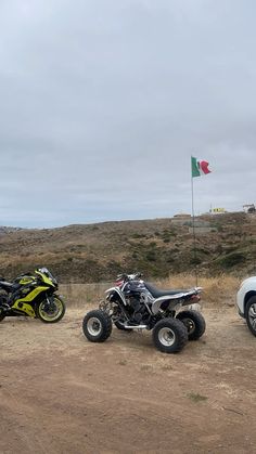
M85 315L84 334L91 342L103 342L111 336L113 324L129 333L149 329L156 349L178 352L205 332L203 315L193 309L201 291L202 287L162 290L143 281L141 273L120 274L114 287L105 290L99 309Z

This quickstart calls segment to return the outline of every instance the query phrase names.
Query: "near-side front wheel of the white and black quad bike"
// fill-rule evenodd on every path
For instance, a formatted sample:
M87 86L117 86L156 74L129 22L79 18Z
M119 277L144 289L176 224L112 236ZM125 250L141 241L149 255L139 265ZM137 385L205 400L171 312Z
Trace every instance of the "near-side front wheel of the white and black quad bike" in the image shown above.
M112 333L112 320L101 310L90 311L82 321L82 332L91 342L104 342Z

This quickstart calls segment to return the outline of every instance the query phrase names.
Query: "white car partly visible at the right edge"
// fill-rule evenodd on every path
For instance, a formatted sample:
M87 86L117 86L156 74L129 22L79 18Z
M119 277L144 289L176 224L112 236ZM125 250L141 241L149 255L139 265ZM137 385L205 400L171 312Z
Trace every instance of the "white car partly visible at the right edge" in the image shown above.
M248 328L256 336L256 276L242 282L236 294L239 314L246 320Z

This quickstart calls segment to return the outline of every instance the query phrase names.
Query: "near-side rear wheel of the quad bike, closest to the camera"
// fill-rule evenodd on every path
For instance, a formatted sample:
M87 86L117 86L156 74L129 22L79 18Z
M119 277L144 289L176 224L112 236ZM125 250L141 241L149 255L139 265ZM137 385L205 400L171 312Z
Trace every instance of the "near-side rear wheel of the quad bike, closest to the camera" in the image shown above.
M153 329L153 342L164 353L177 353L188 342L188 330L182 322L176 319L163 319Z

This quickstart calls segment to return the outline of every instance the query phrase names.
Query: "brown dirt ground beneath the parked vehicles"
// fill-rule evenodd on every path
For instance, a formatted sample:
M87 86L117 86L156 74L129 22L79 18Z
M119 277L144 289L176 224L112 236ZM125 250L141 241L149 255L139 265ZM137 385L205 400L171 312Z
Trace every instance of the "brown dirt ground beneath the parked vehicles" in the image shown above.
M256 338L234 308L203 308L205 335L171 355L149 332L91 343L85 312L1 323L1 454L255 452Z

